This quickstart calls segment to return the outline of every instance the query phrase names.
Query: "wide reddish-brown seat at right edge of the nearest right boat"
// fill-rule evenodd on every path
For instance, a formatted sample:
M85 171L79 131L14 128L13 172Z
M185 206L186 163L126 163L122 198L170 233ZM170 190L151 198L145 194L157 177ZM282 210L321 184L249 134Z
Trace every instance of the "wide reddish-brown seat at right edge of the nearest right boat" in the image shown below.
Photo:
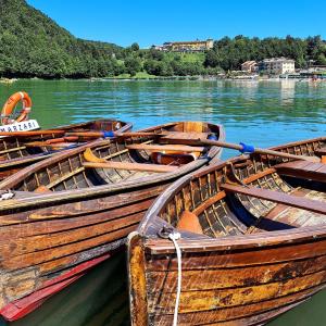
M326 164L309 161L291 161L274 166L280 175L308 178L326 183Z

